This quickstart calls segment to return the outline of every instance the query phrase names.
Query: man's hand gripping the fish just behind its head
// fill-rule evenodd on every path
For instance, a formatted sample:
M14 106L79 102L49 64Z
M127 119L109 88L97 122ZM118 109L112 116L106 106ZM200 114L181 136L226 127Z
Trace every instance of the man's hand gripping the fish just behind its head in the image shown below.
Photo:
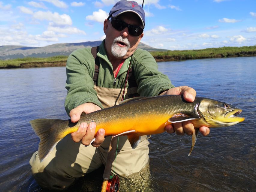
M180 86L171 88L167 91L164 91L160 95L183 95L183 98L188 102L193 102L196 97L196 91L188 86ZM183 135L184 133L191 135L194 131L194 125L191 121L173 123L173 125L167 125L165 127L167 133L174 133L178 135ZM210 133L210 129L208 127L202 126L199 128L199 131L202 135L206 136Z

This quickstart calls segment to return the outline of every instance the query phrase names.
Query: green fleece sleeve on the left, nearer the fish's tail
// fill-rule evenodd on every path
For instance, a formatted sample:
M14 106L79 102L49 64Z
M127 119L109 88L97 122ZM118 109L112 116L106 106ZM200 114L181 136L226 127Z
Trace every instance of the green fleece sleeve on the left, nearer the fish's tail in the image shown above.
M85 55L88 55L86 58ZM69 112L84 103L93 103L103 109L94 89L92 76L94 74L94 58L90 53L81 50L71 53L66 64L66 89L65 110Z

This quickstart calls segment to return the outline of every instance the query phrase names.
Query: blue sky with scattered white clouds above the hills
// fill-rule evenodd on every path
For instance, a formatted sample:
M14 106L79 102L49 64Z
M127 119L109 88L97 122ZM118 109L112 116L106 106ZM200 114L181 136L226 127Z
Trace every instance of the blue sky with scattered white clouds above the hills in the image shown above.
M117 0L0 0L0 46L104 39ZM140 5L142 0L137 1ZM256 0L145 0L143 43L162 49L256 45Z

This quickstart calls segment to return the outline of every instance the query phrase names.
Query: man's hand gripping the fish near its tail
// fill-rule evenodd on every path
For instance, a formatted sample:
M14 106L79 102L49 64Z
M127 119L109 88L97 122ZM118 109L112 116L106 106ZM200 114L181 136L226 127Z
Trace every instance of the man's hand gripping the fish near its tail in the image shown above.
M80 116L83 112L87 114L97 110L101 110L101 108L92 103L85 103L72 109L69 113L69 116L71 117L71 122L75 123L80 119ZM71 133L71 138L74 140L74 142L81 142L83 145L88 146L94 138L95 130L95 122L91 122L89 125L87 123L82 123L76 132ZM92 143L92 146L100 146L104 141L104 136L105 130L99 129L95 141Z

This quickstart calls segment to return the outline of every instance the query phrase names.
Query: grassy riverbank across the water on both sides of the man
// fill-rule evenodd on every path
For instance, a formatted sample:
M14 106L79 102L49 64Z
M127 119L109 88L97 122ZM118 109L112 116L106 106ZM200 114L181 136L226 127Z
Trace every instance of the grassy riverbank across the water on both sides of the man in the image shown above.
M156 61L178 61L186 59L256 56L255 46L220 47L199 50L150 52ZM0 68L59 67L65 66L68 56L48 58L18 58L0 60Z

